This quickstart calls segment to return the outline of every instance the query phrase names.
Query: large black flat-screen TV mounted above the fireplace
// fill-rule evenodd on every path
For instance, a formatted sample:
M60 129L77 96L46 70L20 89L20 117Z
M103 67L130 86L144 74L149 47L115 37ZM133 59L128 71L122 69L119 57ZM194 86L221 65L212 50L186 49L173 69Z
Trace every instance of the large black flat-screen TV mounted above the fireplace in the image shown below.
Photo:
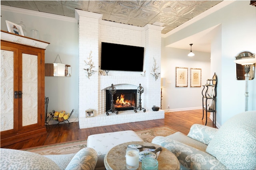
M102 70L143 71L144 47L101 43Z

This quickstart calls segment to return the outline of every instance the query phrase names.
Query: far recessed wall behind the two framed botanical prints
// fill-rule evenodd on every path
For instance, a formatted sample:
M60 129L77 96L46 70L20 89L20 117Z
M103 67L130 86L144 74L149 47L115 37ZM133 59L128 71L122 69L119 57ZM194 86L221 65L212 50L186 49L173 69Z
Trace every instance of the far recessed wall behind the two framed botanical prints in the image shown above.
M190 87L190 68L201 68L201 84L212 78L210 74L210 53L193 51L194 57L188 57L190 51L171 47L162 47L161 77L170 82L162 88L162 109L169 111L202 108L203 87ZM188 87L175 87L175 67L188 68Z

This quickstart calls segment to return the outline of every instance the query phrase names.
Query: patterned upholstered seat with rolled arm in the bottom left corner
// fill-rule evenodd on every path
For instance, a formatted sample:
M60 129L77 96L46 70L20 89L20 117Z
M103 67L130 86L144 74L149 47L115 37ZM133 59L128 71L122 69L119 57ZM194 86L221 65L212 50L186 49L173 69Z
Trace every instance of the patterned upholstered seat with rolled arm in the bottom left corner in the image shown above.
M94 170L98 155L92 148L76 154L40 155L15 149L0 149L1 170Z

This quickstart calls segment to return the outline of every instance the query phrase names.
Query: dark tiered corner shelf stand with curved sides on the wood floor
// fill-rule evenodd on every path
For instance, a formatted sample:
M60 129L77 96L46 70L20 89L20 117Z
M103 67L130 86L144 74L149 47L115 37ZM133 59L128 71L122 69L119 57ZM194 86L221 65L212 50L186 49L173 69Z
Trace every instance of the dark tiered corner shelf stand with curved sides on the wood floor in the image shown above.
M212 122L216 125L216 95L217 95L217 76L214 73L212 79L207 79L207 82L202 90L202 105L203 105L203 117L204 111L206 116L205 125L207 124L207 112L212 112Z

